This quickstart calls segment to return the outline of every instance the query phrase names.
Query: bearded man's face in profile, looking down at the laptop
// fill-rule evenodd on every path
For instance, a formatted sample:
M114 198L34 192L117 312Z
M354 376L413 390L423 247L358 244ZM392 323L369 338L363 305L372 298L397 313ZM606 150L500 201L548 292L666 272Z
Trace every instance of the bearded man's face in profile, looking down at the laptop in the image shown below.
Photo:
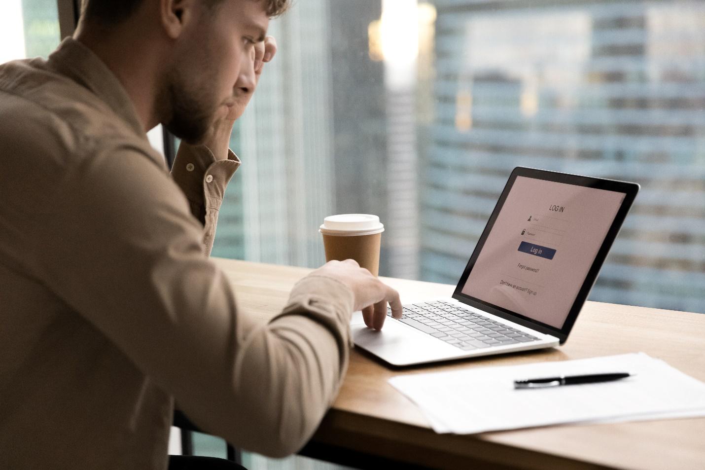
M197 2L175 44L160 97L164 125L188 143L200 143L216 116L226 115L238 100L240 70L269 26L262 0L204 3Z

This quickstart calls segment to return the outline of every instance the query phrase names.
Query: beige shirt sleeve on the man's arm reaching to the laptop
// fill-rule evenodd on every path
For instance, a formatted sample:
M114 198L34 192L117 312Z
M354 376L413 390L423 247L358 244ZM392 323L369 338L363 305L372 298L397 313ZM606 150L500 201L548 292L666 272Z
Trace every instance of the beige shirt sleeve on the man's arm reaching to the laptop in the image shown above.
M219 163L204 160L186 162L201 165L190 173L212 174ZM176 176L180 191L134 147L94 150L63 174L42 223L25 227L37 234L27 247L36 277L203 430L273 457L302 447L348 364L352 291L305 277L262 325L204 256L190 209L207 176Z

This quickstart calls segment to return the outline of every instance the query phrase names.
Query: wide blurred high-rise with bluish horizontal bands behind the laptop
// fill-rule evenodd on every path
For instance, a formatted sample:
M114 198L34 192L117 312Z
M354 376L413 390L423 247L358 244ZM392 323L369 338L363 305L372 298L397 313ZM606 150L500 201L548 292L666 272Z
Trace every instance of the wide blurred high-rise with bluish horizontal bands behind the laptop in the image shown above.
M422 278L455 282L510 170L539 167L642 184L591 299L703 312L705 4L433 3Z

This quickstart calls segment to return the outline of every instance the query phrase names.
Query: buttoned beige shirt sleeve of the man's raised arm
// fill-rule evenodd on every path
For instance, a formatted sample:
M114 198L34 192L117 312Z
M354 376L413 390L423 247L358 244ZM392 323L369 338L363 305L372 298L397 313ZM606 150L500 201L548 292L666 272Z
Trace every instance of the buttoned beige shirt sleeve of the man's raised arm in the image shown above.
M191 214L203 224L203 246L210 255L216 236L218 215L228 182L240 167L240 159L228 149L228 158L218 160L205 145L179 145L171 177L188 200Z

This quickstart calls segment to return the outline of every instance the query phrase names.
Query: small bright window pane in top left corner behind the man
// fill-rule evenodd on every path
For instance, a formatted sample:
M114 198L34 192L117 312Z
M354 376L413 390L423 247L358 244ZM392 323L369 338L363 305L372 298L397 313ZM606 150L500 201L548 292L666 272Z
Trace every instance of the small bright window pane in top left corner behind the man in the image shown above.
M0 64L47 57L59 45L56 0L4 0L0 8Z

